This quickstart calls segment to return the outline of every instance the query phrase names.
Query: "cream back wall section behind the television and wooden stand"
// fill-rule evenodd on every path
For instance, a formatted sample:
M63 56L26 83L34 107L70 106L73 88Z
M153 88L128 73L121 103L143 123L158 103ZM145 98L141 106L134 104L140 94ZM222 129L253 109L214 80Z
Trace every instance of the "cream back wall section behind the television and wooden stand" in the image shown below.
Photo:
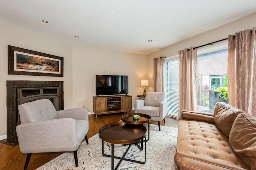
M132 107L143 93L140 80L146 79L146 55L73 47L73 106L93 111L95 75L128 75Z

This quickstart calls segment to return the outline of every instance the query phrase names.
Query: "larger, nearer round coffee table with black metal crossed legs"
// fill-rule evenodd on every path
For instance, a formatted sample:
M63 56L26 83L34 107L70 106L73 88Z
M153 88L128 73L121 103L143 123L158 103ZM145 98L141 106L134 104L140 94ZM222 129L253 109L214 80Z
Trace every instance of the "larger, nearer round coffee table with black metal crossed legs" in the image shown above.
M99 137L102 139L102 155L111 157L111 169L114 170L114 158L120 159L116 165L115 170L121 164L122 160L128 160L131 162L136 162L140 164L146 163L146 127L143 125L132 125L122 121L109 123L102 126L99 129ZM137 143L141 141L143 146L143 139L145 138L145 159L144 162L138 160L132 160L124 158L131 147L132 143ZM111 143L111 155L104 153L104 141ZM124 152L122 157L114 156L114 144L128 144L129 147Z

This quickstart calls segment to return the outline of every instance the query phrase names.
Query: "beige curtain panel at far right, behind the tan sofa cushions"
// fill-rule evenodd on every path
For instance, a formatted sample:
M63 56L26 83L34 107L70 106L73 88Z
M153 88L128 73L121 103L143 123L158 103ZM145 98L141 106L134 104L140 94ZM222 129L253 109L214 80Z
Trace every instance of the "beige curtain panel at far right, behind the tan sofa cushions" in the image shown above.
M256 116L256 27L228 36L229 104Z

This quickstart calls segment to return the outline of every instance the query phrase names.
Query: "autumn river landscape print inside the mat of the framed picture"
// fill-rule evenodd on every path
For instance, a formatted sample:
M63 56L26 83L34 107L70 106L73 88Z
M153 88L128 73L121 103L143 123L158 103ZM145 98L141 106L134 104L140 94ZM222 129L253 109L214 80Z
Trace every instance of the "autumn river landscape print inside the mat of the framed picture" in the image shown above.
M60 74L60 60L28 55L14 51L16 71L48 72Z

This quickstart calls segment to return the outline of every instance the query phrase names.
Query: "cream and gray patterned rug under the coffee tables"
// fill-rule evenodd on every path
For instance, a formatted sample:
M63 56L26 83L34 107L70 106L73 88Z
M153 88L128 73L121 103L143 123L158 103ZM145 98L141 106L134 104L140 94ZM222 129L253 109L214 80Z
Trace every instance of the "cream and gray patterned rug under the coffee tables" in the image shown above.
M147 127L147 124L145 126ZM146 143L146 163L139 164L123 160L118 170L174 170L177 131L177 128L166 126L161 126L161 131L159 131L158 125L150 124L150 140ZM77 151L78 167L75 166L73 152L65 152L36 170L110 170L111 158L102 156L102 140L98 134L88 141L88 145L83 142ZM126 145L115 145L115 156L122 157L127 148ZM104 153L111 154L110 143L104 142ZM144 155L145 151L139 150L133 144L126 158L144 161ZM118 162L119 159L114 159L114 166Z

